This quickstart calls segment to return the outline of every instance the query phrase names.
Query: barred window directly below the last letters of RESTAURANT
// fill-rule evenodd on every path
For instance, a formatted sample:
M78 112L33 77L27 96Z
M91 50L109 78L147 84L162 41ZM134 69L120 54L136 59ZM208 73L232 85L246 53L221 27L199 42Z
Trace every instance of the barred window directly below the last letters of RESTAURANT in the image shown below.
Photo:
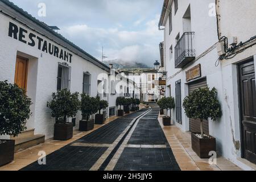
M71 67L67 63L59 63L57 75L57 90L70 90Z

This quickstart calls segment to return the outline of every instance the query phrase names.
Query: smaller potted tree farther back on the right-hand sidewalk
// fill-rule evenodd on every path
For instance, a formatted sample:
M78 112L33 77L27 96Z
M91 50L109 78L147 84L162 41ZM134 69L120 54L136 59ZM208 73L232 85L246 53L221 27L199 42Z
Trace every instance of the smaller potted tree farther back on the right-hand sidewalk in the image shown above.
M163 117L163 125L171 126L171 117L169 117L168 110L175 108L175 99L174 97L163 97L158 101L160 109L166 110L166 114Z

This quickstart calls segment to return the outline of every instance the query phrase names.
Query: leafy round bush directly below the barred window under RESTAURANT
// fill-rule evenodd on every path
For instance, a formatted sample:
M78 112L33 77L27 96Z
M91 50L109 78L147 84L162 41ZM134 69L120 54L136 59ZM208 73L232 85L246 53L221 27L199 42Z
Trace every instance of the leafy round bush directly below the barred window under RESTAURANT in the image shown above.
M67 123L67 118L76 116L80 109L79 93L71 93L69 90L60 90L52 93L52 101L47 102L47 107L52 110L52 117L56 123Z

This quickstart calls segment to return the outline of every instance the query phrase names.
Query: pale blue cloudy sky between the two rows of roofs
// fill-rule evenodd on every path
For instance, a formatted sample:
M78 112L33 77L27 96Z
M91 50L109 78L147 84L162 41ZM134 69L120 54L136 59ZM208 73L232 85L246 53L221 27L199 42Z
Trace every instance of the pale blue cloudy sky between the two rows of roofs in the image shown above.
M163 32L158 21L163 0L11 0L60 34L101 60L138 62L149 66L159 60ZM38 16L39 3L46 17Z

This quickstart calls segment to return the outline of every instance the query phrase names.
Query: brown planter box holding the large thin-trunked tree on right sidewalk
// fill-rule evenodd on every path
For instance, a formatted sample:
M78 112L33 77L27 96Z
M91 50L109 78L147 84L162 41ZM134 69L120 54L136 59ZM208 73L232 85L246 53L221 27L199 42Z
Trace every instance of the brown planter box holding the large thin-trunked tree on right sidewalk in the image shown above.
M201 159L209 159L209 152L216 151L216 139L209 136L210 138L198 138L196 134L191 134L192 149Z

